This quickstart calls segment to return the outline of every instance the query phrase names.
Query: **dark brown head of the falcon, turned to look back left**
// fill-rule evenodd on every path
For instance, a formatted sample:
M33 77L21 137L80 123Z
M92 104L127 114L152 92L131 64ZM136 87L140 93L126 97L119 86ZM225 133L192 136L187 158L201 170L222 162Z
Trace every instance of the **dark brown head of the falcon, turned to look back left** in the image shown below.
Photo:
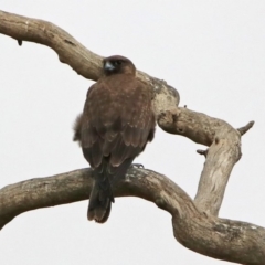
M136 74L136 67L132 62L124 56L114 55L110 57L105 57L103 60L103 72L104 75L113 74Z

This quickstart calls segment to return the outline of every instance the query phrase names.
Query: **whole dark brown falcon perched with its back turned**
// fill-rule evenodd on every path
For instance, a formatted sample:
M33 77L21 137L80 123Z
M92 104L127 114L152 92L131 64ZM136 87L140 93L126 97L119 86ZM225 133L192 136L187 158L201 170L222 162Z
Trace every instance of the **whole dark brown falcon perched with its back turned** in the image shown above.
M151 92L136 78L130 60L103 61L103 76L87 92L83 115L75 124L85 159L94 172L87 218L107 221L114 195L112 181L123 178L155 134Z

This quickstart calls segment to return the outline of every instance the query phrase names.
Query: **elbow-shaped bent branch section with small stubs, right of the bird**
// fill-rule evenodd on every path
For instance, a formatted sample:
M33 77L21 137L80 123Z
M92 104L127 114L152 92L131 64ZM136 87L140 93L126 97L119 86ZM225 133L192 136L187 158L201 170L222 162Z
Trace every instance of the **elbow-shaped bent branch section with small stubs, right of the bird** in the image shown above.
M240 131L224 120L181 107L161 113L158 124L170 134L209 146L194 202L218 216L231 171L241 158ZM243 128L246 131L251 127Z

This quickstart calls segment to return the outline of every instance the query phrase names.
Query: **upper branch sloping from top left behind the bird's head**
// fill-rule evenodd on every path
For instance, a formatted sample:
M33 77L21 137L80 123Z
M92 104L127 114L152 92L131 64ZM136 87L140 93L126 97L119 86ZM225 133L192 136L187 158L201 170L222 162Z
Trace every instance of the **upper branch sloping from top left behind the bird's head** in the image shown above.
M77 74L97 81L102 74L103 57L91 52L72 35L55 24L0 11L0 33L15 40L46 45L57 53L62 63L68 64ZM112 55L112 54L108 54ZM177 107L179 93L165 81L138 71L137 77L153 91L153 109L158 115L169 107Z

